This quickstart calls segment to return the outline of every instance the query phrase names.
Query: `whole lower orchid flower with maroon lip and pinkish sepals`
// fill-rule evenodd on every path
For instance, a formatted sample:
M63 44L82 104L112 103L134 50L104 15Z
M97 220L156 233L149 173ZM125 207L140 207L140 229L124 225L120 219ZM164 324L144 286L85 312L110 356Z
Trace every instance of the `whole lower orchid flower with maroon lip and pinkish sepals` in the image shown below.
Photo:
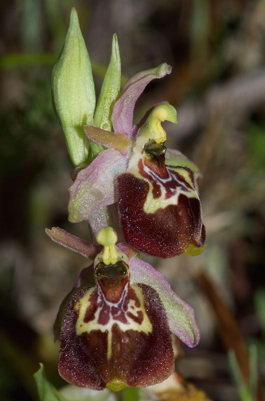
M116 247L110 227L99 231L100 245L59 228L46 232L55 242L94 258L64 299L55 323L61 376L96 390L165 380L174 369L171 333L189 347L198 343L192 308L132 248Z

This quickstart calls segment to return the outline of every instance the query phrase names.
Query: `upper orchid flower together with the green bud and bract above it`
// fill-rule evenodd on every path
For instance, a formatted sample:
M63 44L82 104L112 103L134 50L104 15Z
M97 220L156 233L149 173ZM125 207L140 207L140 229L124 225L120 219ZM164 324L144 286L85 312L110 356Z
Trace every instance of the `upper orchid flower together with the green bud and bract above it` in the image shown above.
M133 126L135 103L146 85L170 72L166 63L142 71L120 92L121 63L114 35L96 105L91 64L73 9L52 80L54 105L76 166L69 220L87 220L94 238L102 227L119 220L127 243L162 258L199 254L205 240L197 167L164 145L161 122L176 123L175 109L162 103Z

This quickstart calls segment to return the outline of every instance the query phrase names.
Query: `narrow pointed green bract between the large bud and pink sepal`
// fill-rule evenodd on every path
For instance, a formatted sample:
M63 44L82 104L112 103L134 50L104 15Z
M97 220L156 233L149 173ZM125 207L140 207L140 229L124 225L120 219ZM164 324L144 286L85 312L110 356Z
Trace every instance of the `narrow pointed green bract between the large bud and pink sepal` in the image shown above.
M121 89L121 60L117 35L113 35L111 57L97 103L94 124L112 130L111 113L113 104L118 100Z

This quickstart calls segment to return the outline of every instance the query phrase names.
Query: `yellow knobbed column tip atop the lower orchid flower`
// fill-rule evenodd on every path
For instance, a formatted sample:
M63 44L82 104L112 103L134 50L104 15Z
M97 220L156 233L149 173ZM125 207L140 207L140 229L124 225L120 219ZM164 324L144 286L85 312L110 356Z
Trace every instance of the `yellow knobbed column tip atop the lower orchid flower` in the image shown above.
M102 228L97 235L97 242L104 246L102 260L105 265L117 263L119 250L116 247L117 233L112 227Z

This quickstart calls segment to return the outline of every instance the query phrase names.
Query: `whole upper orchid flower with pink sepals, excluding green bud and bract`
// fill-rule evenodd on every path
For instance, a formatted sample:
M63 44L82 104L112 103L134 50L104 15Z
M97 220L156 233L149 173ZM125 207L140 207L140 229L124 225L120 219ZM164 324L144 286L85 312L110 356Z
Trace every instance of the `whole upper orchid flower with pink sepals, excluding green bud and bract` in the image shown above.
M112 224L108 207L115 204L125 241L160 258L199 254L205 241L197 167L164 144L161 122L176 123L175 109L161 103L133 126L134 106L146 85L170 72L164 63L127 81L113 106L114 132L84 127L88 139L105 150L77 172L69 202L69 220L87 220L95 236Z

